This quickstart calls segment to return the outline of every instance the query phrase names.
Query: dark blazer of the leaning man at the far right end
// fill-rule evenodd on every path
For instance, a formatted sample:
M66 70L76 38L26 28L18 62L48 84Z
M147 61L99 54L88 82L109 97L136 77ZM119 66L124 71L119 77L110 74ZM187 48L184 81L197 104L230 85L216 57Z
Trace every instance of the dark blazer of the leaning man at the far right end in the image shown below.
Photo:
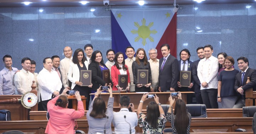
M247 77L250 77L251 82L249 82L248 84L245 84L247 81ZM242 83L241 71L238 74L236 74L234 90L236 91L241 86L244 91L250 88L252 88L253 91L256 91L256 70L255 69L248 68L246 70L243 83Z

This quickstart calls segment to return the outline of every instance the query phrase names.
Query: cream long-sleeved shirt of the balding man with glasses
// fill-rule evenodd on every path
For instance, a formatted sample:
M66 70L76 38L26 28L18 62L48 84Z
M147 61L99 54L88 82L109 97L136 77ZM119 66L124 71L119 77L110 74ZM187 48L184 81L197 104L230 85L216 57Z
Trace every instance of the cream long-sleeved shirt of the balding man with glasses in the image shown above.
M71 58L65 57L64 59L62 59L60 61L60 72L62 74L62 83L65 88L70 86L68 84L68 71L69 71L70 63L73 63L72 59L73 59L73 57L71 57Z

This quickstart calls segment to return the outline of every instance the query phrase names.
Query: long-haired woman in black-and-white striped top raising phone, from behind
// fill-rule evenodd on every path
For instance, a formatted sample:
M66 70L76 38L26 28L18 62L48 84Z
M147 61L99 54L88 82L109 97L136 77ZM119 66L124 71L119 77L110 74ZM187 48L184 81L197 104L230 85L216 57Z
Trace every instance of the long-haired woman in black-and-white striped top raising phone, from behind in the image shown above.
M181 98L181 92L178 92L178 100L175 103L175 111L172 113L172 105L175 102L175 98L169 97L170 107L166 114L167 121L172 124L173 134L189 134L191 115L187 112L186 104Z

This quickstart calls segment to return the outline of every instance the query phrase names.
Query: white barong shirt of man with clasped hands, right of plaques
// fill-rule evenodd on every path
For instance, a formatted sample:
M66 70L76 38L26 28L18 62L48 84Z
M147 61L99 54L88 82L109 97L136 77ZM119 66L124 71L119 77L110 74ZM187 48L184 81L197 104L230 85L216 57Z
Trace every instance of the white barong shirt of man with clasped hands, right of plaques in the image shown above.
M201 83L201 90L218 88L218 70L218 59L213 56L209 57L208 59L204 58L199 61L197 67L197 76ZM207 82L208 87L203 87L203 82Z

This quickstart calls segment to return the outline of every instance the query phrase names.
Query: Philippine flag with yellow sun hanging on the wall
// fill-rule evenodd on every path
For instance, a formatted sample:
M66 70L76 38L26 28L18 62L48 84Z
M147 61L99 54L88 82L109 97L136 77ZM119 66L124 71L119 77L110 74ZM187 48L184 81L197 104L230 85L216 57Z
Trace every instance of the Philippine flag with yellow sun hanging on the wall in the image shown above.
M112 49L125 54L125 48L132 46L135 52L144 48L148 55L150 48L156 48L160 59L161 45L169 44L171 54L176 57L177 14L172 10L111 9Z

